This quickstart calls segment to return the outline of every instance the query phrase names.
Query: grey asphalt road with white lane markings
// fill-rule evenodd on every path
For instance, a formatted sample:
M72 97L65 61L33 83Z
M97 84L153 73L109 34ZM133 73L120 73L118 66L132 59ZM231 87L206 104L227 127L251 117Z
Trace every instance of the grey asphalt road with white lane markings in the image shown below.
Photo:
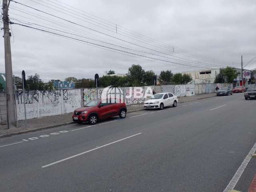
M233 94L1 138L0 191L222 192L256 142L255 109Z

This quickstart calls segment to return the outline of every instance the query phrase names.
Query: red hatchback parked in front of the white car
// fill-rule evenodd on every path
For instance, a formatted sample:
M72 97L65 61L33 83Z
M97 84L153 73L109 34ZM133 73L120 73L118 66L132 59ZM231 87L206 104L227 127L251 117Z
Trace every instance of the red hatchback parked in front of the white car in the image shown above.
M74 110L72 119L74 122L89 122L96 124L99 119L113 116L126 117L125 103L102 102L100 99L88 102L84 107Z

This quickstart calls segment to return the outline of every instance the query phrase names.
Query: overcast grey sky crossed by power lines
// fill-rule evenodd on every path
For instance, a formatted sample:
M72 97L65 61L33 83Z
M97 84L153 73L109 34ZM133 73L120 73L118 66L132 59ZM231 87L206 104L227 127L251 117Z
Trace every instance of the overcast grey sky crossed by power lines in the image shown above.
M79 39L82 36L83 40L88 40L86 37L94 37L94 39L104 40L118 46L140 50L144 52L143 55L152 58L169 60L156 55L169 57L168 54L170 54L170 57L174 56L176 59L179 57L182 58L180 60L198 61L200 64L198 63L196 66L201 65L202 69L205 69L208 67L212 68L213 65L229 65L232 62L234 62L234 66L240 65L241 55L243 55L244 64L256 57L255 0L59 0L99 17L98 21L95 19L92 20L94 21L91 21L92 24L88 23L90 20L87 20L89 17L86 17L85 13L82 15L80 12L73 12L72 10L74 8L70 8L56 0L34 0L35 2L32 0L17 1L66 20L76 22L80 26L11 2L9 12L10 18L13 18L10 20L13 22L18 22L14 20L18 19L20 21L19 23L36 23L47 26L48 28L56 27L55 29L58 27L58 30L62 29L64 32L67 32L66 30L70 31L70 29L72 32L73 29L74 33L80 35ZM36 2L40 2L51 8L54 7L50 6L50 4L55 6L59 4L72 10L69 9L70 12L67 12L64 7L60 7L63 10L58 9L62 11L58 12ZM54 2L57 4L53 4ZM15 10L17 8L23 9L25 13ZM30 15L26 14L28 12L31 12ZM38 17L44 16L48 20L36 18L32 14ZM76 18L72 16L76 16ZM91 16L91 18L94 17ZM100 18L106 21L100 20ZM95 22L99 23L97 24L98 26L95 26ZM106 22L106 24L103 22ZM62 24L62 28L58 24ZM117 24L118 33L115 32L115 24ZM104 29L107 28L104 25L110 27L111 31L109 28L108 30ZM36 25L29 26L42 28ZM123 26L133 32L126 30L126 34L124 34L124 31L120 30L122 28L119 26ZM122 40L117 40L85 27ZM48 30L52 31L50 29ZM58 33L65 34L64 32ZM146 40L141 36L137 39L138 36L135 32L164 42L170 45L170 48L167 49L167 45L163 47L163 44L154 46L151 40ZM26 75L40 74L40 77L44 81L50 79L62 80L69 76L93 78L95 73L102 76L106 70L110 69L116 73L126 73L128 67L132 64L140 64L145 70L154 70L157 74L160 74L161 70L182 72L200 69L180 65L194 65L195 63L169 60L180 63L174 64L159 60L152 61L152 59L141 56L128 56L113 52L113 50L105 50L97 46L76 42L18 25L12 25L12 34L12 41L14 40L14 43L11 43L12 69L16 76L20 76L22 70L25 70ZM2 35L3 30L1 31ZM129 36L129 38L128 35L132 35L133 37ZM68 36L72 35L70 34ZM4 72L3 38L0 38L0 44L2 44L0 50L0 72ZM174 46L174 52L172 51L172 46ZM189 53L186 52L184 54L184 52L176 49L176 47L186 50ZM124 50L123 48L120 49ZM138 53L136 52L136 54ZM195 56L194 53L209 58L202 59L201 56ZM213 63L213 59L210 61L210 58L214 58L216 64ZM247 68L256 68L256 59Z

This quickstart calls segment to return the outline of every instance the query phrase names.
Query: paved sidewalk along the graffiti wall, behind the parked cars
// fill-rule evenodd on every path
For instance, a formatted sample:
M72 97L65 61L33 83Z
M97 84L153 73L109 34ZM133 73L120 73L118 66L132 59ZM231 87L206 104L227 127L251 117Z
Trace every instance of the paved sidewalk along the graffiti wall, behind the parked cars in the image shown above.
M201 94L190 97L181 97L179 98L179 103L191 102L194 100L210 98L216 96L216 93L209 94ZM133 104L127 105L127 112L135 112L139 110L144 110L143 104ZM18 121L18 128L14 129L6 129L5 125L0 125L0 137L10 136L13 134L20 134L24 132L31 132L36 130L42 130L47 128L52 128L56 126L62 126L65 124L73 123L72 121L72 113L64 114L64 115L55 115L55 116L47 116L43 118L34 118L27 120L27 127L25 128L25 121Z

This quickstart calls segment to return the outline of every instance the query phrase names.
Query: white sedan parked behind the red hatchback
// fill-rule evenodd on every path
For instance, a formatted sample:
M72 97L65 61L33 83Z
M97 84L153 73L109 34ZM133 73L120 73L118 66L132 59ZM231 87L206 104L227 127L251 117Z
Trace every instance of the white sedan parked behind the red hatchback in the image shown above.
M178 104L178 98L172 93L158 93L154 94L152 98L144 102L145 109L158 108L164 109L166 106L176 107Z

